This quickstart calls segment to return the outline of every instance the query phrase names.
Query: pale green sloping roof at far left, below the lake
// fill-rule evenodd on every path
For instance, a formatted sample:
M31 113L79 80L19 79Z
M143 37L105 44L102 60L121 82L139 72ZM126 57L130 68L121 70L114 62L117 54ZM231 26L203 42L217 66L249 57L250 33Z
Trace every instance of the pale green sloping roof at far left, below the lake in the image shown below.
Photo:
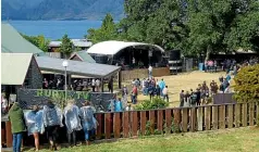
M5 53L34 53L42 55L44 52L23 38L10 24L2 23L1 50Z

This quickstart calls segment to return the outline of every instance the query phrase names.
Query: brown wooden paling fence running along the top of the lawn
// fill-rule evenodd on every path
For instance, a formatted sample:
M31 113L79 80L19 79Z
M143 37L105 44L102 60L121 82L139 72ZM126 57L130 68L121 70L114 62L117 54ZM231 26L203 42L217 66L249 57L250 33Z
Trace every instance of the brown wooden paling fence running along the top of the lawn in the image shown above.
M259 123L259 104L237 103L175 107L121 113L97 113L97 139L130 138L177 131L202 131L254 126ZM12 143L11 125L5 123L7 145Z

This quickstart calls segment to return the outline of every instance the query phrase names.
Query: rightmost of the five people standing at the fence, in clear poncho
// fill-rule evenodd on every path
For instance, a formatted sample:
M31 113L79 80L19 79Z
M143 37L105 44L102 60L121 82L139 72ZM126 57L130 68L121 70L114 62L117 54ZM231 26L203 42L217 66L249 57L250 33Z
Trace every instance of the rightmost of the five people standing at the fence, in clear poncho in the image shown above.
M98 125L96 118L94 117L94 111L90 106L89 101L86 101L84 103L84 106L81 107L79 116L82 118L82 126L85 132L86 144L89 145L90 138L95 136L95 131Z

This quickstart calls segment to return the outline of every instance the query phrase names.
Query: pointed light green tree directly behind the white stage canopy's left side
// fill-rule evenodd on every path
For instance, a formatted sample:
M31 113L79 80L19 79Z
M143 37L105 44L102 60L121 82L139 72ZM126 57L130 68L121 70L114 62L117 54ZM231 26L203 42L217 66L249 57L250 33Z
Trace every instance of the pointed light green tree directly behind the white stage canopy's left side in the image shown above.
M107 14L102 21L102 25L99 29L90 28L87 30L88 35L85 36L90 39L94 43L116 39L116 27L113 22L112 15Z

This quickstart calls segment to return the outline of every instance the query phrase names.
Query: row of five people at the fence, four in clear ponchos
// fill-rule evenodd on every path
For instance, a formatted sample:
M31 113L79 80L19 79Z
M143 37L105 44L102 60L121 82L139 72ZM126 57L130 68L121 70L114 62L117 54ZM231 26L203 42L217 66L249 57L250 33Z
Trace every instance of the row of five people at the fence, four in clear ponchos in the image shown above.
M28 136L34 136L36 151L39 150L39 134L44 132L47 132L50 149L57 150L59 129L63 126L66 128L70 147L76 145L76 131L82 129L85 132L86 144L89 145L90 141L95 139L95 130L98 125L94 113L95 109L89 101L78 107L74 100L70 100L64 110L61 111L49 100L42 110L34 105L33 110L26 113L15 102L9 111L13 134L13 152L21 151L23 135L26 130Z

